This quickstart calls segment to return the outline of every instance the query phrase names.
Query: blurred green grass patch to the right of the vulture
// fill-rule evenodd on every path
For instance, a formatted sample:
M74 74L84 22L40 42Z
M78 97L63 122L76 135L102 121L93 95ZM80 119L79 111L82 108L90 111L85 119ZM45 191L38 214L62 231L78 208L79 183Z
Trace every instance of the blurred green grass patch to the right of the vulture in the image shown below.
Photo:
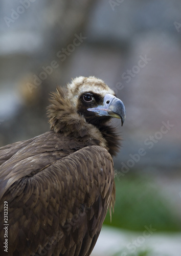
M111 223L108 212L104 224L138 231L145 230L145 225L151 225L156 231L181 230L170 202L150 177L127 174L115 181L115 211Z

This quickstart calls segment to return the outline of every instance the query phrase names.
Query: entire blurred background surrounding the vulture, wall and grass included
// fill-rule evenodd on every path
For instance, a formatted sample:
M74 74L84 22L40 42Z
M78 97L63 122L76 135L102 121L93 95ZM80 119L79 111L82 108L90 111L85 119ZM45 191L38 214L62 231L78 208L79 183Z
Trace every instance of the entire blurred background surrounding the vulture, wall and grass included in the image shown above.
M0 146L49 130L51 91L103 79L127 117L93 255L180 255L181 2L1 0Z

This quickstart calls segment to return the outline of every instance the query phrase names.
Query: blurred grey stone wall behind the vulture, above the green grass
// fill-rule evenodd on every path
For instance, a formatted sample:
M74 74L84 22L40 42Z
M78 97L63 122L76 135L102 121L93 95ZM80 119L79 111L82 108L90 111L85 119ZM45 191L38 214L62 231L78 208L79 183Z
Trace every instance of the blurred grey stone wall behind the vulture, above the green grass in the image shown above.
M126 106L116 167L179 174L179 0L1 0L0 14L1 146L47 131L49 92L94 75Z

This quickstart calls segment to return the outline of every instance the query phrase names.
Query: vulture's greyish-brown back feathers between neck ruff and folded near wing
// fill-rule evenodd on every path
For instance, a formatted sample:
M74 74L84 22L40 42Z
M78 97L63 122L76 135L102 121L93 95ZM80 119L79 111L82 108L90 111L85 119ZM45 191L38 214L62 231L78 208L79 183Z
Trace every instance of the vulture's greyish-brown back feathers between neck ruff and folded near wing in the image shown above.
M0 199L18 179L34 175L81 147L73 138L47 132L0 148Z

